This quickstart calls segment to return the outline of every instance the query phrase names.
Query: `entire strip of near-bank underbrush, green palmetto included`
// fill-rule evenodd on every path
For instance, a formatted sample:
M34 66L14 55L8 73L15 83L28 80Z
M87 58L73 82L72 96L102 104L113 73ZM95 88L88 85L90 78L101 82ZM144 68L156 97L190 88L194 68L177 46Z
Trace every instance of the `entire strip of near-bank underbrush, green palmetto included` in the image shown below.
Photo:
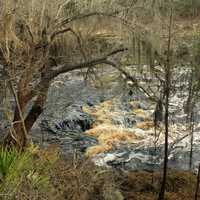
M63 158L50 146L0 152L0 199L5 200L154 200L160 173L122 172L95 166L90 160ZM170 171L167 200L192 200L195 175Z

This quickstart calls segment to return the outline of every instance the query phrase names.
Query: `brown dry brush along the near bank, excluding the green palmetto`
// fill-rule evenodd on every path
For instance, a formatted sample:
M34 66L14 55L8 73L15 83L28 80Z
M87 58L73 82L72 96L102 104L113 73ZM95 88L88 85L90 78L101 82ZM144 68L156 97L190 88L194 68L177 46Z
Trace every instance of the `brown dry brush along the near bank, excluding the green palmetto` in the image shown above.
M43 154L48 152L43 151L40 156ZM77 158L60 158L49 175L51 190L41 193L24 180L15 199L156 200L161 181L160 172L117 172ZM169 171L166 200L192 200L195 185L195 175Z

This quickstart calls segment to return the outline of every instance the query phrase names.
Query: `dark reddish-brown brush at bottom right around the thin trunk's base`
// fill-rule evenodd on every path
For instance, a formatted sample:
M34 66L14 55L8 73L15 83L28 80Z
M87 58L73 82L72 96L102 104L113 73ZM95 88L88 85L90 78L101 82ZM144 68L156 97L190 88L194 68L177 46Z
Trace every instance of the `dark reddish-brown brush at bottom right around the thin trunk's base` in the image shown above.
M128 200L156 200L160 188L160 173L130 172L120 177L121 190ZM170 171L166 200L194 199L196 177L189 172Z

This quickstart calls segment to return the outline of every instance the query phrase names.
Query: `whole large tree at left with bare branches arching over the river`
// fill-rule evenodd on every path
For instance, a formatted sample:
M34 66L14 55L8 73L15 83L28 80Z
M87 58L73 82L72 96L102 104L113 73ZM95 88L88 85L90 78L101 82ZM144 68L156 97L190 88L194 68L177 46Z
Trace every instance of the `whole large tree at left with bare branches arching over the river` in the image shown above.
M143 1L124 4L116 0L1 1L0 73L15 100L6 145L26 146L28 133L43 111L49 85L60 74L86 69L87 78L94 67L104 64L128 75L119 67L120 57L115 57L120 65L111 58L128 50L130 38L136 43L129 49L137 52L138 66L144 52L152 63L158 51L152 33L144 26L146 20L138 18L143 5ZM133 14L136 9L139 11ZM144 11L144 16L153 17L149 6ZM149 95L134 77L129 79Z

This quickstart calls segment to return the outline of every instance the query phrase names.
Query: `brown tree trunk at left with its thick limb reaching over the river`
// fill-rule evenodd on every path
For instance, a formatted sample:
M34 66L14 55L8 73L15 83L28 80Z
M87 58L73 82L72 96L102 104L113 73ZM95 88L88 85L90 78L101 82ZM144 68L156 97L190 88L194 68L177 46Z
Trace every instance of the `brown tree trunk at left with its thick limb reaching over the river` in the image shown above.
M115 55L117 53L126 51L127 48L117 49L112 51L111 53L104 55L100 58L93 59L91 61L75 64L75 65L61 65L56 66L55 69L52 67L51 69L47 68L46 71L42 72L42 79L39 84L35 86L32 91L27 91L24 94L24 90L20 90L18 94L15 94L13 89L13 94L15 96L16 108L13 120L13 127L9 131L7 137L4 140L4 144L6 146L16 146L17 148L23 149L28 144L28 134L36 122L38 117L43 111L43 106L47 98L47 92L50 85L51 80L53 80L56 76L62 73L67 73L77 69L90 68L99 64L110 64L107 63L107 58ZM111 65L111 64L110 64ZM23 81L22 81L23 82ZM27 104L36 97L34 104L24 119L24 113L26 110Z

